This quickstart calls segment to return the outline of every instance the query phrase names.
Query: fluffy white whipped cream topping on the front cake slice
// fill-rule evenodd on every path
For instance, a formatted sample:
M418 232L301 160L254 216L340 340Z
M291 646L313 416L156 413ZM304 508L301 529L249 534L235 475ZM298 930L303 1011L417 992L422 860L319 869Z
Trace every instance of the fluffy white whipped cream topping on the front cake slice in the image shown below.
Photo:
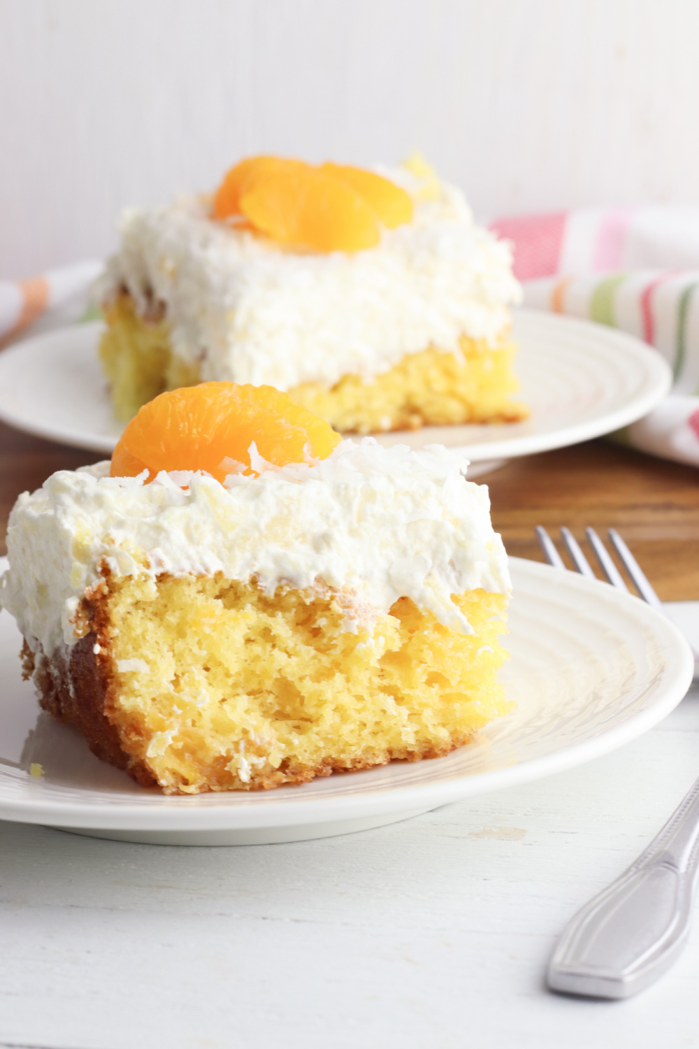
M61 470L17 500L2 606L46 655L71 645L80 601L106 563L116 577L213 575L271 593L280 583L343 592L347 628L399 597L471 633L452 594L509 593L487 488L440 445L422 451L344 441L327 459L260 476L109 477L109 463ZM180 485L188 484L187 489Z

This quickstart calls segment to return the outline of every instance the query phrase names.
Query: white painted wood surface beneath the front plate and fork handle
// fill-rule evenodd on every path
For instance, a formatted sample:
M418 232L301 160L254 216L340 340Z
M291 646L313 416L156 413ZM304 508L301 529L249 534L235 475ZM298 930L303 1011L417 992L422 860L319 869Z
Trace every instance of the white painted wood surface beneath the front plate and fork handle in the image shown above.
M0 1049L696 1046L699 930L628 1002L543 980L698 772L695 688L608 757L345 837L176 849L0 823Z

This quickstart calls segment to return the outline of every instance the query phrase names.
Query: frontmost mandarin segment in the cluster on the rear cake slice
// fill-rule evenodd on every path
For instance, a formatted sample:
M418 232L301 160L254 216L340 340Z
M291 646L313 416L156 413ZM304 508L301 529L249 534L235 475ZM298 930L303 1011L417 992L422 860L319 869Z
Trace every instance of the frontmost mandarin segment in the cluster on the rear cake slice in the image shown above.
M241 193L240 210L280 243L311 251L356 252L379 239L362 194L310 165L260 171Z

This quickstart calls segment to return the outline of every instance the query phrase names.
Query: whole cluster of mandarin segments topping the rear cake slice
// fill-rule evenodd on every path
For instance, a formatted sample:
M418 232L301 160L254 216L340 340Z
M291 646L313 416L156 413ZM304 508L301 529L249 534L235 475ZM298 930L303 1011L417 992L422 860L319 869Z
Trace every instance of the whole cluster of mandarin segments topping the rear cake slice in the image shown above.
M212 213L245 219L286 247L355 252L375 247L383 226L409 222L413 204L399 186L363 168L253 156L226 173Z

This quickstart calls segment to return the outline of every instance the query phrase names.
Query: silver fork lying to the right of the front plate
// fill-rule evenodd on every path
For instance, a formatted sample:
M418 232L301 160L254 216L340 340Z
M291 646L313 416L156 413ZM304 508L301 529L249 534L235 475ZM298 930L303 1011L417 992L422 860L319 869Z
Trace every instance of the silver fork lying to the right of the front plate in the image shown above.
M628 590L594 529L586 533L610 583ZM577 571L594 578L575 537L566 528L561 535ZM537 538L549 564L565 570L545 529L537 528ZM609 538L640 597L664 612L618 532L610 529ZM568 924L549 963L548 986L568 994L618 999L654 983L686 942L698 870L699 779L638 859Z

